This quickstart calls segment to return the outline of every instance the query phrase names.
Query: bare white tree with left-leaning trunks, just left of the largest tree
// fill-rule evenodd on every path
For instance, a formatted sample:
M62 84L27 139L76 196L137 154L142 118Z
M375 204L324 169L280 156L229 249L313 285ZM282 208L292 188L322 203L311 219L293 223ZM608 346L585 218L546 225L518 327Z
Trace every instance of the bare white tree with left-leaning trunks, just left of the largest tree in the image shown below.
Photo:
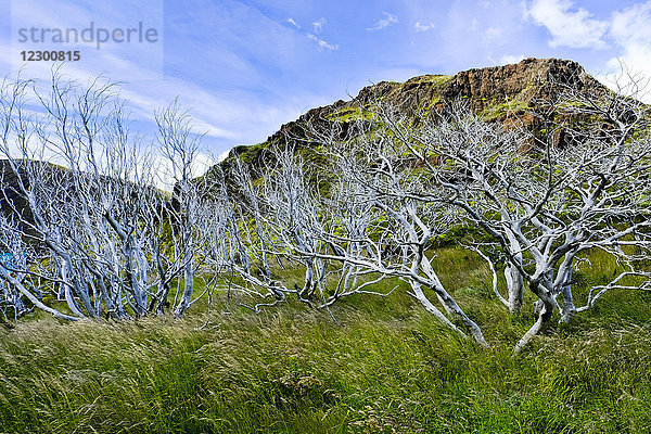
M319 257L342 261L346 269L333 298L345 294L359 276L374 278L363 288L353 285L354 291L370 291L367 285L397 277L443 324L487 345L480 326L444 288L433 265L433 240L456 221L451 207L439 201L439 186L407 149L381 132L381 124L363 120L347 126L345 132L340 126L333 128L326 133L311 130L332 162L328 166L332 190L324 212L327 225L314 237L330 247Z

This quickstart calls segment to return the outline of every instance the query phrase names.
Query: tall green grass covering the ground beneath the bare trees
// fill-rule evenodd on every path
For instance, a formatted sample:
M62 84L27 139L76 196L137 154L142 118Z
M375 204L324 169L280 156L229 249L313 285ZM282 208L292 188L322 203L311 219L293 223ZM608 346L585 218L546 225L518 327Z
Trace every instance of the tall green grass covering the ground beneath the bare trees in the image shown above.
M591 258L583 285L612 272ZM218 299L183 321L0 332L0 433L644 432L651 425L648 294L613 293L511 356L509 318L477 257L439 252L444 280L489 350L443 330L404 292L324 312L258 316ZM288 278L292 278L288 276ZM392 283L386 282L386 288ZM207 323L206 323L207 321ZM202 328L202 326L206 327Z

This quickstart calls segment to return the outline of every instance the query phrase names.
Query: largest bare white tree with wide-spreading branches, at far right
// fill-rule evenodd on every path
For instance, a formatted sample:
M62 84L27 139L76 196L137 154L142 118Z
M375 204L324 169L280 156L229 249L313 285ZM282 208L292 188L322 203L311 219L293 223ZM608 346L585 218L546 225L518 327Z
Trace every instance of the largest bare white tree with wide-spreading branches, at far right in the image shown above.
M418 123L380 111L386 129L374 132L391 137L394 154L414 157L436 186L410 187L406 196L454 205L495 240L508 260L509 296L500 298L511 312L522 305L520 279L537 296L536 321L516 350L554 311L569 321L609 289L648 288L639 268L650 245L644 106L603 90L567 92L548 104L553 117L541 136L488 124L462 106ZM576 308L572 270L597 248L625 271Z

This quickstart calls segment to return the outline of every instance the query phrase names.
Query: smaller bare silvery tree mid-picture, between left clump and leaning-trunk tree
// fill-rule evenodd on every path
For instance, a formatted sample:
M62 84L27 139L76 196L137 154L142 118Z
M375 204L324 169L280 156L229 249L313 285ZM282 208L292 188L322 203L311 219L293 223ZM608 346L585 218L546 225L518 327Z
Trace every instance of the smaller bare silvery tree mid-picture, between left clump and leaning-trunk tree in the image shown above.
M234 167L234 188L240 197L232 201L238 203L230 219L238 221L237 226L242 229L233 244L239 252L239 275L273 297L271 304L294 293L299 301L312 305L315 295L323 292L328 266L311 254L322 247L320 240L310 235L310 228L319 225L316 218L320 205L318 193L307 179L299 157L291 150L271 151L269 157L272 163L264 174L256 174L263 175L256 186L248 167L241 162ZM275 279L270 257L276 259L278 268L304 270L301 288L288 288ZM263 305L266 303L254 309Z

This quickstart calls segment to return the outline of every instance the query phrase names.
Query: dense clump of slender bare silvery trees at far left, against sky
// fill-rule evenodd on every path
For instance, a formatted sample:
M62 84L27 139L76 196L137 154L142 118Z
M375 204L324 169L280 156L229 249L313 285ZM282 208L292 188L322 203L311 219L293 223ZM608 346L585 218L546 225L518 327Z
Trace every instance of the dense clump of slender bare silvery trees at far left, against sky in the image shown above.
M3 174L13 175L2 186L11 210L3 226L40 255L20 271L65 299L76 318L162 312L171 281L182 280L175 310L182 316L199 264L202 186L193 181L200 137L178 103L157 116L166 167L176 176L169 199L155 187L159 158L130 131L107 80L80 87L55 71L47 92L21 80L2 92L0 152ZM3 278L16 286L15 276Z

